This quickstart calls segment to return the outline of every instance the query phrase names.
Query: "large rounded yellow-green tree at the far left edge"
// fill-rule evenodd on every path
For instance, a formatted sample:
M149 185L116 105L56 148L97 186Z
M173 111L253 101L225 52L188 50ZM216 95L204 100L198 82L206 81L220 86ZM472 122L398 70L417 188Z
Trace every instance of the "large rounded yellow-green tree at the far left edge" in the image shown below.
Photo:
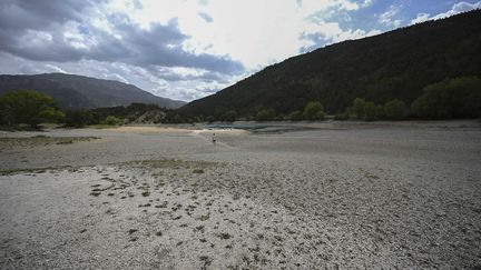
M38 128L43 121L59 122L65 118L51 97L33 90L8 91L0 97L0 103L1 114L10 126L28 123Z

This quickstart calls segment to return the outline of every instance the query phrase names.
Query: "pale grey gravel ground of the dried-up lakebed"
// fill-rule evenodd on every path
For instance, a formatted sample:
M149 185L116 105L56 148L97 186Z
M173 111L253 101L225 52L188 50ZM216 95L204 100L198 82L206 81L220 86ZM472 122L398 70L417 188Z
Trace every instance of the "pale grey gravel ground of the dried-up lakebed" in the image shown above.
M479 122L306 126L8 133L0 268L481 267Z

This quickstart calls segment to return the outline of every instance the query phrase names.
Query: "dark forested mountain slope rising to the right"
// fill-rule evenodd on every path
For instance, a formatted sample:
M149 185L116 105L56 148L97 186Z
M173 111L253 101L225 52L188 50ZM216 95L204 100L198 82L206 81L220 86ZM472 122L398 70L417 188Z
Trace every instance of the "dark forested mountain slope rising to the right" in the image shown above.
M336 113L357 97L410 104L428 84L469 76L481 76L481 10L293 57L180 110L249 117L263 109L289 113L317 100Z

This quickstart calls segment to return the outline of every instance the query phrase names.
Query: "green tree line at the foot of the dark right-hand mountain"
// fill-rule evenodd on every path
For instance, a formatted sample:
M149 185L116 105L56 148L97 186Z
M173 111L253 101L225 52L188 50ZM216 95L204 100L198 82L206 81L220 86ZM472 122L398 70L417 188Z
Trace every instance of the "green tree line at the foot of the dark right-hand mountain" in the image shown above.
M328 104L327 104L328 106ZM239 114L235 110L217 110L200 119L205 121L234 120L323 120L324 106L320 101L310 101L303 110L291 112L276 111L274 108L262 108L255 113ZM408 120L408 119L472 119L481 117L481 79L479 77L448 78L429 84L410 104L400 99L385 103L375 103L365 98L355 98L344 111L335 113L336 120Z

